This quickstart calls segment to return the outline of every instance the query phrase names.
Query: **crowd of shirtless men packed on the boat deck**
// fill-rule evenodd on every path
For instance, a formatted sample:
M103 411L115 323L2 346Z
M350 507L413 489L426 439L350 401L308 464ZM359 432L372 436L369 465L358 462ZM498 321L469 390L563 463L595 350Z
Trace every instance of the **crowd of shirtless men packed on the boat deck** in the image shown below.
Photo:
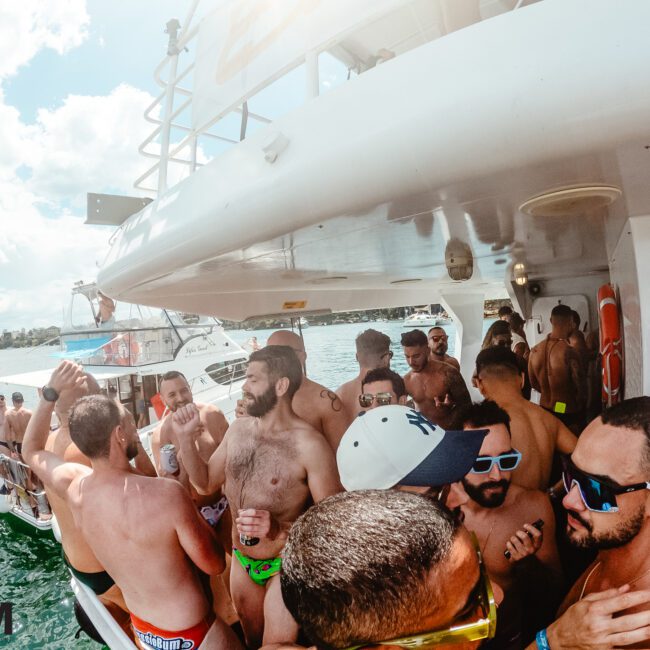
M404 377L390 338L362 332L336 391L278 331L231 423L162 377L153 463L133 415L64 361L22 455L70 570L145 650L643 644L650 397L592 417L589 337L564 305L551 327L531 349L504 313L475 403L441 327L402 335Z

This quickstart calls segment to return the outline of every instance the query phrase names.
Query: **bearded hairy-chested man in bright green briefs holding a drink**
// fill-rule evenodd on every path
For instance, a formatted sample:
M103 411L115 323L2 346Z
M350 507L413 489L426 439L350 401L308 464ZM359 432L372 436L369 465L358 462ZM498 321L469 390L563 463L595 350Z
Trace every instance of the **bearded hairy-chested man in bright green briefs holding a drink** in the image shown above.
M237 513L230 591L251 648L296 640L298 628L280 593L280 554L298 516L341 490L325 438L292 409L301 380L291 348L270 345L253 352L243 386L252 417L233 422L208 463L194 444L196 407L184 406L173 416L194 487L210 493L224 485Z

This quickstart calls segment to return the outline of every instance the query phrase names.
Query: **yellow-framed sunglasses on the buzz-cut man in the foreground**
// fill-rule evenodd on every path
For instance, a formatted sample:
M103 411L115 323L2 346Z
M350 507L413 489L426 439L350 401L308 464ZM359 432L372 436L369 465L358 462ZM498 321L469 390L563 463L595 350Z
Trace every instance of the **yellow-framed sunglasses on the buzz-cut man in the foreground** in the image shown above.
M398 648L432 648L442 644L467 643L469 641L480 641L492 639L497 627L497 605L494 600L492 584L488 577L483 555L478 545L476 535L471 533L472 545L476 551L480 578L472 590L467 607L452 621L449 627L429 632L421 632L411 636L404 636L389 641L374 641L355 645L346 650L359 650L374 646L397 646ZM467 622L468 615L477 615L475 620Z

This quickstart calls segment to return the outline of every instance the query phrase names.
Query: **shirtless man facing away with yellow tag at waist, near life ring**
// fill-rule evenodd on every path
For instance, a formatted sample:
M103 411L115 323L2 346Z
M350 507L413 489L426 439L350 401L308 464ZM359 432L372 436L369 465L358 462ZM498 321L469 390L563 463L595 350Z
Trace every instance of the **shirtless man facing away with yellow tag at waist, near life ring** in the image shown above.
M538 343L528 359L532 387L541 393L540 405L574 433L579 433L585 404L585 386L579 353L569 345L573 330L571 308L551 311L551 333Z

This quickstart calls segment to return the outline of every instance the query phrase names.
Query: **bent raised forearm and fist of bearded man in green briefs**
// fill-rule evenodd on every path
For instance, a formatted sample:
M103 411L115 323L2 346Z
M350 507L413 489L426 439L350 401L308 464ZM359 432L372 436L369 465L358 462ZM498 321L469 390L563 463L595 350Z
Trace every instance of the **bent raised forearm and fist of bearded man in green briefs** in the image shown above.
M212 494L226 480L228 434L206 463L199 456L194 442L200 424L199 410L195 404L179 408L172 416L172 427L181 447L183 464L190 482L199 494Z

